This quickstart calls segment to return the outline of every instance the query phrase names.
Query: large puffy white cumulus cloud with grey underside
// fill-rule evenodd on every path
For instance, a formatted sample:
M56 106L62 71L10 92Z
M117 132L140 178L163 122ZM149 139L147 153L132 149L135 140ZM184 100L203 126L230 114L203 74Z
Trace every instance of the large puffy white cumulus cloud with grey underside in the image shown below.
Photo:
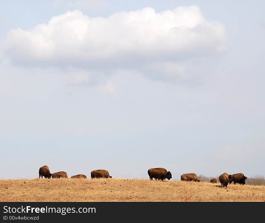
M154 71L158 79L183 77L190 60L224 51L224 25L208 21L195 5L161 12L143 8L107 18L67 11L30 30L12 29L5 41L11 63L83 70L76 83L117 69L137 70L151 79Z

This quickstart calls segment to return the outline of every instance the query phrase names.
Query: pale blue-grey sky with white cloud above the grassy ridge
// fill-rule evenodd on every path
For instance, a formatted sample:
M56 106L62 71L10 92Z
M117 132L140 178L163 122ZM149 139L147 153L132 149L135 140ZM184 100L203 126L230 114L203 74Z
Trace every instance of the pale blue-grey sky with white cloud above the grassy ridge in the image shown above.
M264 1L1 1L0 179L265 175Z

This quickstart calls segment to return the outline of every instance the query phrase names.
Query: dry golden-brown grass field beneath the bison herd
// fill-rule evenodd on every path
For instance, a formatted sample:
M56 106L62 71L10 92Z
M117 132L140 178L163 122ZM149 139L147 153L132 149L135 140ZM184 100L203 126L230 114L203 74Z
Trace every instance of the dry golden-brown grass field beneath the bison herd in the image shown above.
M1 202L265 202L265 186L149 179L0 180Z

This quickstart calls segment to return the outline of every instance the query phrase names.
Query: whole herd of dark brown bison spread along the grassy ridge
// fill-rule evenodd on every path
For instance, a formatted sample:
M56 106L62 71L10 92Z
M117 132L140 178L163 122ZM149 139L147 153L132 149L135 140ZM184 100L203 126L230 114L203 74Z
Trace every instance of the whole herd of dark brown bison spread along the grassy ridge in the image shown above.
M172 174L170 171L167 171L165 168L151 168L148 170L148 175L150 180L157 179L157 180L164 180L164 179L171 179ZM52 173L50 172L50 169L48 166L42 166L39 168L39 178L43 177L44 178L68 178L67 173L64 171ZM86 178L86 175L84 174L78 174L71 176L71 178ZM109 172L107 170L92 170L91 171L91 179L93 178L112 178L110 176ZM195 181L195 182L200 182L198 179L198 176L196 173L185 173L180 176L180 179L182 181ZM219 176L219 181L221 183L222 187L227 187L228 183L234 182L234 184L239 183L244 185L246 182L247 177L244 176L243 173L235 173L235 174L228 174L228 173L223 173ZM213 178L210 180L211 183L217 183L217 179Z

